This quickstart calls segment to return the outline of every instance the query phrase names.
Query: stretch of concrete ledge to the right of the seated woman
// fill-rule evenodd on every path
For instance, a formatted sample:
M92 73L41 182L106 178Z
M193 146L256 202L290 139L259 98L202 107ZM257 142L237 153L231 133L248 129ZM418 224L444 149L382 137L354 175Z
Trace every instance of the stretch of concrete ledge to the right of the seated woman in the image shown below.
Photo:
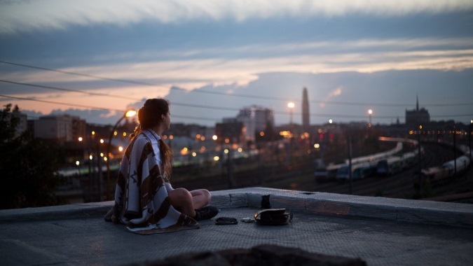
M246 195L246 204L242 196ZM272 208L287 208L311 214L377 218L407 223L425 223L473 228L473 208L471 204L451 202L431 202L423 200L402 200L386 197L364 197L334 193L310 193L273 188L245 188L212 192L213 199L230 195L228 200L238 198L238 202L228 202L219 208L255 207L261 208L263 195L270 195ZM214 200L212 200L214 204Z

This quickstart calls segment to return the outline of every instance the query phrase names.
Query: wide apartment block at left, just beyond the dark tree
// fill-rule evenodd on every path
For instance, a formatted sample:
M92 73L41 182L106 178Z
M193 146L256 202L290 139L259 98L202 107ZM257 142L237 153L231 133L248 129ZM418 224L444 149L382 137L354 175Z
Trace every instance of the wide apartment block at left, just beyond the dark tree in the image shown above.
M85 120L76 116L42 116L34 121L34 137L41 139L73 141L84 137L85 130Z

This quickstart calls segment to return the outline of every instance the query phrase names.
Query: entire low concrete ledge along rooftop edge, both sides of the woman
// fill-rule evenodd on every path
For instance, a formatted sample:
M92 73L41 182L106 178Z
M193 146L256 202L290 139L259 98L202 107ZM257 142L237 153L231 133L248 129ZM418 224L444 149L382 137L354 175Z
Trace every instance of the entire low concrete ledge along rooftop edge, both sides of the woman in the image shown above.
M471 204L364 197L334 193L310 193L273 188L240 188L212 191L212 205L219 209L261 208L270 195L272 208L287 208L310 214L378 218L407 223L425 223L473 228ZM0 222L104 216L113 202L69 204L56 207L0 210Z

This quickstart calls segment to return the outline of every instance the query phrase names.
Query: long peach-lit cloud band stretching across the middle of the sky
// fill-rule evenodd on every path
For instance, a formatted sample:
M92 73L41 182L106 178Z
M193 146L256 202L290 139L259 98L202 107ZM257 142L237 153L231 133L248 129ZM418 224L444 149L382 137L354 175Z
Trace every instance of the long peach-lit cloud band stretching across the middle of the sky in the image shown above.
M173 85L186 90L208 84L244 86L256 80L259 73L269 72L372 73L390 69L469 69L473 68L471 43L473 38L392 38L286 43L266 48L263 45L247 45L245 57L231 56L234 50L240 49L238 47L214 48L214 55L207 49L193 48L193 54L198 56L161 59L160 55L156 55L145 59L142 55L151 53L137 52L134 58L138 63L94 61L93 66L74 66L60 70L149 83L147 89L152 88L153 92L164 94ZM182 50L176 48L162 52L177 54ZM102 57L114 57L114 54ZM2 73L2 78L20 83L48 85L82 83L81 86L90 87L90 90L119 90L125 86L118 82L93 84L98 82L94 78L64 75L56 71Z

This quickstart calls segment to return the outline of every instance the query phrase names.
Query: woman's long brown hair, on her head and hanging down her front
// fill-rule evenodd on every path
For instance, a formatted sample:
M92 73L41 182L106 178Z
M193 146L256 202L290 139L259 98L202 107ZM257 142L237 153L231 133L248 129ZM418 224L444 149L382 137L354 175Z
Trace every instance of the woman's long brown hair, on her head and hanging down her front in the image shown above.
M166 116L169 112L169 102L165 99L147 99L144 105L138 111L138 125L130 137L135 139L143 130L149 130L156 125L163 122L161 115ZM163 141L159 142L161 169L163 169L163 176L169 180L172 172L172 151L169 146Z

